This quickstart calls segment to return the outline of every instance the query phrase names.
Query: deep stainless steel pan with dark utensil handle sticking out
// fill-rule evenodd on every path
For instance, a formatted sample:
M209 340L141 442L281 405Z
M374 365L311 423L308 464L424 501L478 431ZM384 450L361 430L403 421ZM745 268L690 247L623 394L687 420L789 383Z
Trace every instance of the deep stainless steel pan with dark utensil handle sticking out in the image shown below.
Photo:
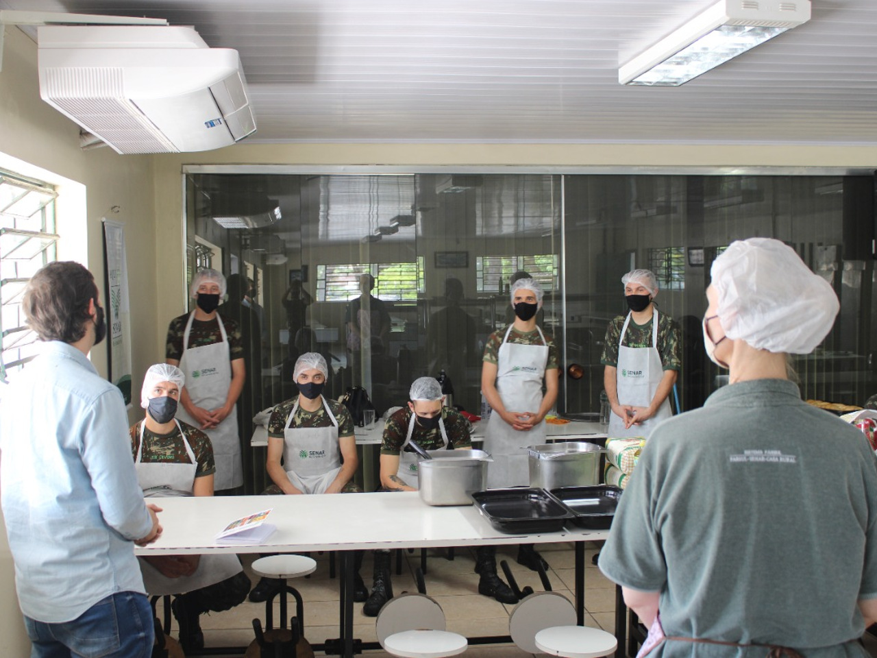
M430 450L417 464L420 497L428 505L470 505L488 488L490 455L483 450Z

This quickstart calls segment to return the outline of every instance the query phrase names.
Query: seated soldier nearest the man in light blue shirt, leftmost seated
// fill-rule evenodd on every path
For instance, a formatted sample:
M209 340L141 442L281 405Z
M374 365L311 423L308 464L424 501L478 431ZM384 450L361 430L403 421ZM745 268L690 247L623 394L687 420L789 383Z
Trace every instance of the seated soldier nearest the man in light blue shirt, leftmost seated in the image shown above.
M132 426L131 447L145 497L213 495L210 437L174 418L183 383L182 370L167 363L152 366L143 379L146 417ZM178 595L172 609L187 652L204 646L201 614L229 610L250 590L237 555L156 555L139 562L149 594Z

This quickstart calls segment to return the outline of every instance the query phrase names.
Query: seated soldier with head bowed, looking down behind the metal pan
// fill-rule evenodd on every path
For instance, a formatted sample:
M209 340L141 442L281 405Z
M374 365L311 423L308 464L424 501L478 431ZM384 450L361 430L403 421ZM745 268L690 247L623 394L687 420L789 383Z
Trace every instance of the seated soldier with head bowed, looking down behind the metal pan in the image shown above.
M460 411L442 406L445 397L435 377L420 377L411 384L408 406L387 418L381 441L381 487L385 491L417 491L417 453L414 440L424 450L471 450L469 425ZM510 587L496 575L496 549L476 549L475 571L481 575L478 591L500 603L517 603ZM374 586L362 607L374 617L387 602L389 591L389 551L374 552Z

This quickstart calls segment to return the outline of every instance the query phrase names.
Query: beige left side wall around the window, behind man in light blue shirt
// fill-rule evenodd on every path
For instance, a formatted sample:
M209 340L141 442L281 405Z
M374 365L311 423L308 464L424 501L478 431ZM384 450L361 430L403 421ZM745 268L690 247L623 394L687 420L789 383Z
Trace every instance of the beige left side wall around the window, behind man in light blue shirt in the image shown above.
M39 98L35 44L18 28L6 27L5 31L0 71L0 167L59 184L58 230L62 235L59 255L88 265L102 291L101 218L125 222L131 283L132 368L139 401L139 382L144 371L153 361L161 360L163 354L156 352L153 335L157 295L151 159L123 157L109 148L82 152L78 126ZM111 211L113 206L118 206L118 213ZM106 375L106 349L96 349L92 361ZM11 555L3 533L0 637L3 654L17 658L30 653L30 644L12 583Z

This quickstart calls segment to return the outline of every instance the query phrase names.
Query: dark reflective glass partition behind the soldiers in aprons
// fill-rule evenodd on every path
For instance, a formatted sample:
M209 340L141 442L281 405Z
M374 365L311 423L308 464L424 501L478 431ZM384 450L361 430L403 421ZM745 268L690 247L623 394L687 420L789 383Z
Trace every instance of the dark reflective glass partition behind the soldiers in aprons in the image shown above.
M841 300L824 345L793 360L803 396L864 404L877 393L873 188L869 176L189 174L188 268L238 275L230 296L263 309L243 418L296 393L307 351L330 364L331 397L362 386L380 414L445 370L454 404L479 413L484 342L513 317L519 270L545 290L558 410L581 412L599 408L621 276L652 269L659 310L681 326L674 408L686 410L724 383L702 350L711 262L733 240L774 237Z

